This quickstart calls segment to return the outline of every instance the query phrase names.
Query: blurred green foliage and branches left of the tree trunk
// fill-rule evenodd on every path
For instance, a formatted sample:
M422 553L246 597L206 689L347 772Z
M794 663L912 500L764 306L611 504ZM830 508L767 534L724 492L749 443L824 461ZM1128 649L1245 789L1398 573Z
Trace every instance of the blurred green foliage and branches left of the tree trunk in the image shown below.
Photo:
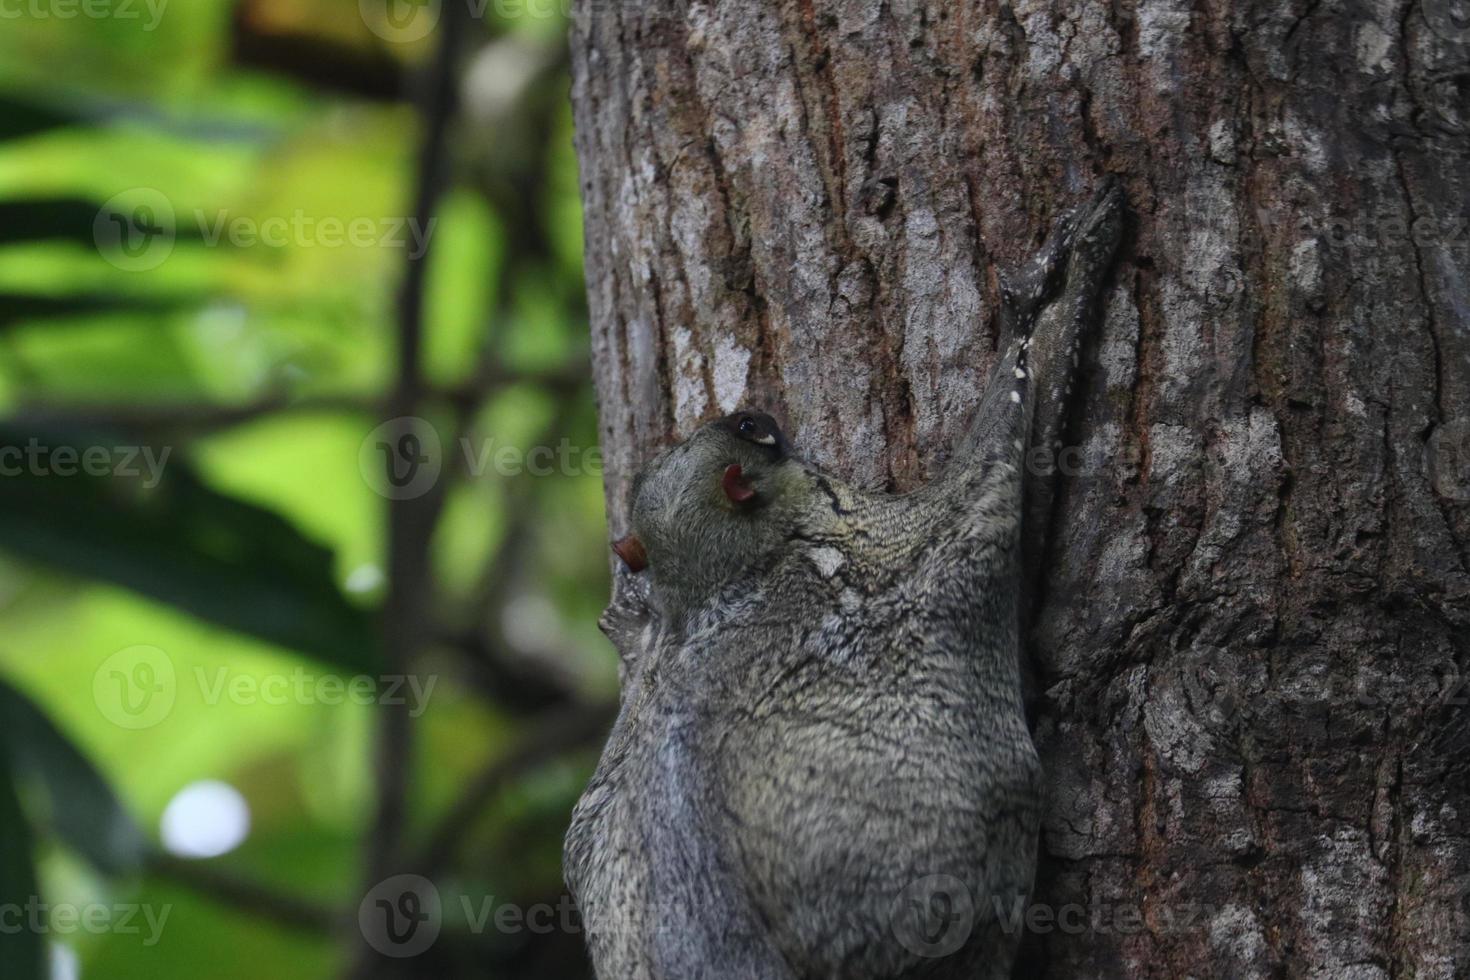
M566 7L0 3L0 976L587 974Z

